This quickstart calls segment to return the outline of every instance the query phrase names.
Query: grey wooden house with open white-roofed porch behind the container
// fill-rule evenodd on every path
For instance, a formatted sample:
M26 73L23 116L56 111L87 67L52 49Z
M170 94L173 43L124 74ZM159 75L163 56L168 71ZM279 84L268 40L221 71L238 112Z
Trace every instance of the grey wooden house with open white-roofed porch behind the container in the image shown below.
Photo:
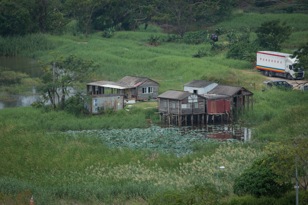
M150 78L127 75L117 82L98 81L87 83L87 93L94 94L122 94L124 99L136 101L156 98L159 83Z

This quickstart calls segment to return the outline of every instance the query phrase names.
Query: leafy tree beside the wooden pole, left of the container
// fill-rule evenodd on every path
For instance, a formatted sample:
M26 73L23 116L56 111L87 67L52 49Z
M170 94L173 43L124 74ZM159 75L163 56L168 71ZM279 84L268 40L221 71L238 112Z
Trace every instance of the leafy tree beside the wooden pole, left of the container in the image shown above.
M59 52L50 53L52 60L55 62L55 82L53 82L53 69L50 66L44 66L44 74L40 78L40 85L36 90L43 95L41 101L50 100L54 103L55 98L58 98L58 106L64 109L65 97L70 94L70 90L75 86L76 81L82 81L89 72L97 69L97 65L91 60L84 60L75 55L70 55L67 58L58 56Z

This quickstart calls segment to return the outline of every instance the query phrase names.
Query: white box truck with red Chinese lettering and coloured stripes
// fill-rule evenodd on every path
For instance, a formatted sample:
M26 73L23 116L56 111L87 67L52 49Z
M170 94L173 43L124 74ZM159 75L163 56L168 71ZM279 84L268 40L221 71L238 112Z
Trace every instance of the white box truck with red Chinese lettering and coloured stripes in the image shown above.
M296 58L291 58L291 55L274 51L258 51L257 69L269 77L279 76L288 80L304 78L304 68L294 68Z

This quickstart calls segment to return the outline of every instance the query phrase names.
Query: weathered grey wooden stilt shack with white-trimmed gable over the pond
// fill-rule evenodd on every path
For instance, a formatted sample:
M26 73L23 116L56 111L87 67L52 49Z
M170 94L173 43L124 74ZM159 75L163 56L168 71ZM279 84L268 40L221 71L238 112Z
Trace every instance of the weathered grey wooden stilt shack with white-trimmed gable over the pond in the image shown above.
M166 119L169 123L181 124L184 120L187 124L187 117L191 122L196 116L198 123L204 122L205 98L199 94L181 90L168 90L157 96L158 112L163 115L163 121ZM202 119L201 119L202 118Z

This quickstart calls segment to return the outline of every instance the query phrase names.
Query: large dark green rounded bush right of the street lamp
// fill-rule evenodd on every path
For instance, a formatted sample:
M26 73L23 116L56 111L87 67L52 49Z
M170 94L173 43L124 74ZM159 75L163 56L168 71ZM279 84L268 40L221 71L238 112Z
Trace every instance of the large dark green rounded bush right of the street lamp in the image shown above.
M274 174L271 166L273 159L269 156L256 160L251 167L235 178L233 192L237 195L250 193L256 197L280 197L291 188L282 176ZM283 181L287 183L278 183Z

